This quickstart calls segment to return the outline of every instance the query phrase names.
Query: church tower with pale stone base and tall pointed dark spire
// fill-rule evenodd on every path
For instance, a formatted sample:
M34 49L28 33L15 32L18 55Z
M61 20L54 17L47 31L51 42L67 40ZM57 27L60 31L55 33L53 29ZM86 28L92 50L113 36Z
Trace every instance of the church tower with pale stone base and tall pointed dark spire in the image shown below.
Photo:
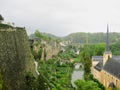
M105 65L105 63L109 58L112 58L112 53L110 51L110 45L109 45L109 26L107 24L106 51L104 52L103 55L103 66Z

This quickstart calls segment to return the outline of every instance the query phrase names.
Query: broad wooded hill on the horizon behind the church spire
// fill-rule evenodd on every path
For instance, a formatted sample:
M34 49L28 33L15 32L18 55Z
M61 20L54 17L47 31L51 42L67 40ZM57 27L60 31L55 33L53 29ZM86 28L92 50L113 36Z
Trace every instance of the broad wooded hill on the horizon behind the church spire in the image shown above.
M86 38L88 37L88 43L104 43L106 42L106 33L72 33L66 37L65 40L71 40L72 43L85 44ZM109 34L110 43L115 43L120 40L120 33L111 32Z

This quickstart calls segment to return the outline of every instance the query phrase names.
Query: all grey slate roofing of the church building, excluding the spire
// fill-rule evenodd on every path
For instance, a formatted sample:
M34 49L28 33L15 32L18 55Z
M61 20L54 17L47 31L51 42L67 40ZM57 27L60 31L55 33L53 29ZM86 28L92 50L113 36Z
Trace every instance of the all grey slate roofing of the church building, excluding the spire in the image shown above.
M96 59L96 60L95 60ZM109 59L106 64L103 66L103 57L102 56L93 56L92 60L100 61L94 68L98 71L104 69L113 76L120 78L120 56L113 56Z

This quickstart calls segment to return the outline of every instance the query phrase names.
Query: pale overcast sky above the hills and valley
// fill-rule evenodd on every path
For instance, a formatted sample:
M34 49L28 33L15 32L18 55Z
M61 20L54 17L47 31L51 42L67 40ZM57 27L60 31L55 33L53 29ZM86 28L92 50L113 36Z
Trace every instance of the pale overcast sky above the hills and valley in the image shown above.
M120 32L120 0L0 0L6 22L65 36L72 32Z

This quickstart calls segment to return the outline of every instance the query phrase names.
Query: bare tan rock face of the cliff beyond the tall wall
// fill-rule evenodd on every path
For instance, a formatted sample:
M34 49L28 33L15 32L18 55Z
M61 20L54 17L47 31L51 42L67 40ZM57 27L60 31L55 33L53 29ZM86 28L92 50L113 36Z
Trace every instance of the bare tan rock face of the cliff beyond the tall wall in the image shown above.
M43 41L41 44L34 46L34 50L38 52L40 47L42 47L41 60L49 60L61 50L60 44L56 41Z

